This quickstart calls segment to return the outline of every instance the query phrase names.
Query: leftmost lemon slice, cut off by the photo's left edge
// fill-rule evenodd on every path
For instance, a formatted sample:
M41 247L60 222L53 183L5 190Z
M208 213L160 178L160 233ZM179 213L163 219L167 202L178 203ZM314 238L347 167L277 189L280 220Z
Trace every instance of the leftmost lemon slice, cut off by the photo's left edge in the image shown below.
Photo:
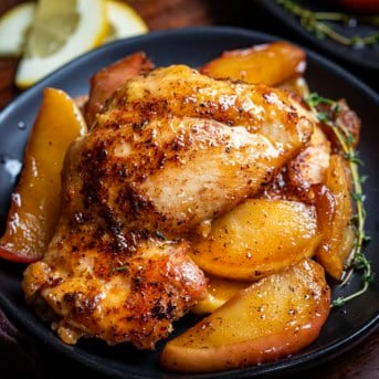
M32 22L34 2L19 4L0 19L0 55L21 55L24 35Z

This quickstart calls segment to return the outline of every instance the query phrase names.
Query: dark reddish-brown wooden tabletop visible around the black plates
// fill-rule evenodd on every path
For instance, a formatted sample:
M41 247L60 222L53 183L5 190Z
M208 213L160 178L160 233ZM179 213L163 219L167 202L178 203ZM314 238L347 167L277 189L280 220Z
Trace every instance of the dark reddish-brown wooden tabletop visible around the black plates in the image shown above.
M22 0L1 0L0 14ZM224 0L129 0L128 1L146 20L150 30L162 30L169 28L180 28L188 25L224 24L249 28L252 30L264 31L271 34L280 35L301 43L304 46L317 50L309 45L308 41L302 40L263 9L254 1L224 1ZM345 69L360 77L366 84L375 88L372 77L377 72L362 70L360 67L338 61L333 56L327 57L339 63ZM14 98L19 91L13 86L13 77L17 69L17 59L0 59L0 109ZM375 88L377 90L377 87ZM2 138L3 136L1 136ZM42 347L43 349L43 347ZM48 354L49 361L59 361L60 371L63 376L67 372L86 372L85 369L75 366L72 362L62 362L62 357L53 352ZM55 378L61 378L56 370L51 366L45 369L46 377L54 373ZM1 375L0 375L1 376ZM92 376L93 378L94 376ZM338 358L322 365L312 370L291 375L292 378L307 379L341 379L341 378L379 378L379 329L371 333L367 338L352 347L349 351Z

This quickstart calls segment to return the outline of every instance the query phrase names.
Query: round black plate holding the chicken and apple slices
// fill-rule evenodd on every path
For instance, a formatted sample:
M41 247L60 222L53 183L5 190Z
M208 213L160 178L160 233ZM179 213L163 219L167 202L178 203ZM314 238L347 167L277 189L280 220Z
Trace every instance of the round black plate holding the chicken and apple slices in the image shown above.
M28 130L30 130L41 104L42 90L46 86L62 88L72 96L85 94L88 90L88 78L95 71L138 50L144 50L158 66L173 63L199 66L220 54L223 50L250 46L275 39L278 38L240 29L198 28L151 33L101 48L77 59L27 91L1 113L0 154L6 158L22 159ZM378 115L376 114L379 103L378 96L354 76L312 52L308 52L306 77L314 91L333 98L346 97L351 107L362 118L364 130L360 150L362 159L367 162L365 172L370 176L366 185L367 229L373 240L368 249L368 256L372 262L373 271L379 273L379 254L377 254L377 241L379 241L379 206L377 202L379 173L376 167L376 162L379 161ZM20 125L24 125L25 128L20 129ZM14 177L9 175L4 165L1 165L0 210L2 227L13 182ZM50 330L49 326L36 318L33 310L25 305L20 288L21 274L21 266L0 262L0 304L11 317L24 325L31 334L49 344L52 348L108 375L135 378L176 377L175 375L164 373L158 366L158 356L162 344L154 352L137 351L127 344L108 347L97 340L80 341L76 346L62 344L56 335ZM354 275L351 283L345 288L333 288L334 296L350 293L357 288L358 284L359 277ZM376 280L364 296L341 309L331 310L319 338L292 358L241 370L194 377L242 378L280 370L282 372L285 369L310 367L351 347L368 331L372 330L378 320L379 283ZM191 317L179 322L177 324L178 330L186 328L192 322Z

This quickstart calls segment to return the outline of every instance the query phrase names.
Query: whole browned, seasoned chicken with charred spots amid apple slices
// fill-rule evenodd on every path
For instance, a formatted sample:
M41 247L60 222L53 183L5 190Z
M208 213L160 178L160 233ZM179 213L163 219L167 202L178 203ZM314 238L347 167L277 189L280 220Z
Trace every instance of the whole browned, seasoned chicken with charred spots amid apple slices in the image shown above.
M313 124L285 92L183 65L130 78L96 117L67 152L61 220L23 288L67 343L154 348L206 292L186 235L262 192Z

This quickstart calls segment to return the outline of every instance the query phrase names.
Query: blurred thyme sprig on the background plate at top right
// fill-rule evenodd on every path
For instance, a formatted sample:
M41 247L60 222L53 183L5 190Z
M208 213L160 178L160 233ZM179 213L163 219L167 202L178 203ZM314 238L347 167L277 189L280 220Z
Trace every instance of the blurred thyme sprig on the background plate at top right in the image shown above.
M299 18L301 24L309 32L314 33L317 38L324 39L325 36L345 45L354 48L362 48L365 45L375 45L379 42L379 33L373 33L366 36L354 35L346 36L338 33L326 22L339 22L347 25L356 25L357 22L379 25L379 17L354 17L339 12L315 12L309 9L299 7L295 1L291 0L276 0L276 2L286 9L288 12ZM325 22L326 21L326 22Z

